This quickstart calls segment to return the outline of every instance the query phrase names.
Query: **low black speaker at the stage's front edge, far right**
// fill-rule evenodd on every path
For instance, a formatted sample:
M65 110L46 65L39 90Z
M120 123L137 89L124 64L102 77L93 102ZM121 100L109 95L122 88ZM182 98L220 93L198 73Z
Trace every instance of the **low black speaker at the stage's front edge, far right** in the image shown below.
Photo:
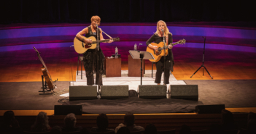
M221 114L222 109L225 109L225 104L195 106L198 114Z

